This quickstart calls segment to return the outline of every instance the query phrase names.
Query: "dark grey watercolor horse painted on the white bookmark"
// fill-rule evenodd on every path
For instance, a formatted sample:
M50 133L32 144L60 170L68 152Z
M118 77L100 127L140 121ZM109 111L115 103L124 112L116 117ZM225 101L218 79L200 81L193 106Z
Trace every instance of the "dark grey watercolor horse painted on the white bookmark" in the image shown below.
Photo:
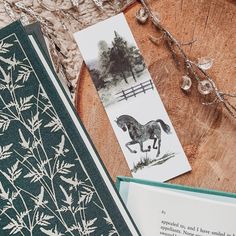
M134 144L140 145L140 150L142 152L149 152L151 150L151 146L148 146L147 149L144 149L143 143L149 139L153 140L153 149L157 149L157 157L160 154L161 148L161 128L167 133L170 134L170 126L167 125L163 120L152 120L147 124L142 125L136 119L129 115L121 115L115 121L117 125L126 132L128 129L129 136L132 141L125 144L125 146L129 149L131 153L137 153L136 150L132 150L129 146ZM158 141L158 146L156 143Z

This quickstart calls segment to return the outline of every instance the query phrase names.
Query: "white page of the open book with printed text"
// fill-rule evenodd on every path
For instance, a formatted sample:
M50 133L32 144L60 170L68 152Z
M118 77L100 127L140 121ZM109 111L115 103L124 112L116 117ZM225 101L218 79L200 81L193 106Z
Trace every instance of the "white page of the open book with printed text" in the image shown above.
M142 236L236 236L236 204L130 183L127 207Z

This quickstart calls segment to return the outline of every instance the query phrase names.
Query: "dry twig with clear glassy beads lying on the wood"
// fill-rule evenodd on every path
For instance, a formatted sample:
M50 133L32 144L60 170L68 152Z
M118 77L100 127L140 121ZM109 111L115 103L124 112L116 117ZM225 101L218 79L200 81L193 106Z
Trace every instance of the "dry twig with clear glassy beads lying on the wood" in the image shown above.
M205 99L204 105L222 104L228 113L236 119L236 106L229 101L229 98L236 98L236 94L225 93L221 91L213 78L207 72L212 66L212 59L202 58L198 62L194 62L183 50L186 44L180 43L171 32L169 32L160 22L158 15L154 14L146 0L138 0L142 4L142 8L137 12L136 18L140 23L145 23L147 18L150 18L153 25L161 33L159 38L150 37L154 44L158 44L160 40L164 41L167 48L172 54L172 57L177 65L183 65L185 75L183 75L183 84L181 88L188 92L192 86L192 80L198 84L198 92ZM188 44L192 44L189 42ZM209 99L211 99L209 101Z

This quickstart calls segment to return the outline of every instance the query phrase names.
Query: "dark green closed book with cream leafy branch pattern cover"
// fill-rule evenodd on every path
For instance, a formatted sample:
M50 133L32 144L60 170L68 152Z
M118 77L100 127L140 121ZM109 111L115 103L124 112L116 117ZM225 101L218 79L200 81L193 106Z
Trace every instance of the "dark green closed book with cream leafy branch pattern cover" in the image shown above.
M0 235L139 235L62 91L22 25L1 29Z

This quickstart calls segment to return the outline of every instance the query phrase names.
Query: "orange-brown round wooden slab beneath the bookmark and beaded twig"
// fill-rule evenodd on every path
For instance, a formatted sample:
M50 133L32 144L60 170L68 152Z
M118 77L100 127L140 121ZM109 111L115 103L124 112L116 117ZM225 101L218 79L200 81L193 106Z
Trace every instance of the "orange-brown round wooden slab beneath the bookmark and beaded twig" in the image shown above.
M209 73L225 92L236 93L236 4L226 0L153 0L162 24L181 42L193 39L184 50L194 60L211 57ZM192 89L182 93L182 71L176 69L164 45L155 46L148 35L159 33L151 22L139 25L134 15L139 4L125 13L155 85L192 165L192 172L172 183L236 192L236 121L219 106L203 106ZM77 86L76 107L113 180L130 175L104 108L86 67ZM196 87L196 84L194 85ZM236 101L235 101L236 102Z

